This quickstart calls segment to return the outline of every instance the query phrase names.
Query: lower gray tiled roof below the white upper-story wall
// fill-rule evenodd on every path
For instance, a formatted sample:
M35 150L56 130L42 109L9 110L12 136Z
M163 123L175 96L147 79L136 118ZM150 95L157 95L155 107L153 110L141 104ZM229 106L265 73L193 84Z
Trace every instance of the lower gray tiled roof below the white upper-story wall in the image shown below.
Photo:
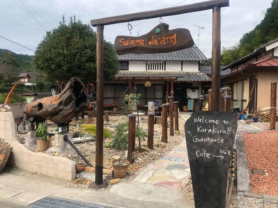
M174 76L178 77L177 81L211 81L211 79L204 73L196 71L196 72L154 72L154 71L141 71L141 72L135 72L135 71L120 71L116 77L128 77L128 76L134 76L134 77L140 77L140 76Z

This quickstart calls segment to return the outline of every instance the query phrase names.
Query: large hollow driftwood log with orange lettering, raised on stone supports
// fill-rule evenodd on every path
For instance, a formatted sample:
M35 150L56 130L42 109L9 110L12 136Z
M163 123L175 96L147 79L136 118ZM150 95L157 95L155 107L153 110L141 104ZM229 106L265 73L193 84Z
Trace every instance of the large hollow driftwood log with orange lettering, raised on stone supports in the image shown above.
M26 118L37 117L56 123L67 123L88 105L89 97L84 84L77 77L73 77L60 94L28 103L24 113Z

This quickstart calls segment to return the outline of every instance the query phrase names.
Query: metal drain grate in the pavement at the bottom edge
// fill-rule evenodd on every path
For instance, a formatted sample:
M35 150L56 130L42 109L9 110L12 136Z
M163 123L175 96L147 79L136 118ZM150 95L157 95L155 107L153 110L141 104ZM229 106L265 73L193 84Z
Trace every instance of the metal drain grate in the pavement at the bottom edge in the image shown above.
M63 198L44 197L32 204L29 207L33 208L112 208L100 204L80 203L74 200Z

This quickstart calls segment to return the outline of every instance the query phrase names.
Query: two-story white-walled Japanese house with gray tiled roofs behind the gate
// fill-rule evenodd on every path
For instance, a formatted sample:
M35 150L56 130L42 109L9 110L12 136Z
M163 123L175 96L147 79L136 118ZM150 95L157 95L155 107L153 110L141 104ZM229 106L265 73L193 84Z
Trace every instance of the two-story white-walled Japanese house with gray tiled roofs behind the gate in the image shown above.
M210 78L200 71L200 62L207 61L205 55L197 47L179 51L156 54L117 55L120 72L113 81L104 85L104 102L106 105L123 105L122 97L132 93L140 93L140 107L154 101L157 105L166 103L167 95L171 95L171 83L175 101L179 108L186 96L198 99L203 93L203 85ZM168 90L167 90L168 86Z

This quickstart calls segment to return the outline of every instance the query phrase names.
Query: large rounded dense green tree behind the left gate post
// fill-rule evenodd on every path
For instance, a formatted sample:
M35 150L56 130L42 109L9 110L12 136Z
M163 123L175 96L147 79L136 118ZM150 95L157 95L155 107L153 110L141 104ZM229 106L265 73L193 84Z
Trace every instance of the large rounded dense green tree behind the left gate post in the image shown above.
M57 81L63 89L73 76L84 83L96 80L96 32L88 24L64 16L60 26L47 32L35 51L33 65L48 81ZM119 71L115 49L104 41L104 79Z

